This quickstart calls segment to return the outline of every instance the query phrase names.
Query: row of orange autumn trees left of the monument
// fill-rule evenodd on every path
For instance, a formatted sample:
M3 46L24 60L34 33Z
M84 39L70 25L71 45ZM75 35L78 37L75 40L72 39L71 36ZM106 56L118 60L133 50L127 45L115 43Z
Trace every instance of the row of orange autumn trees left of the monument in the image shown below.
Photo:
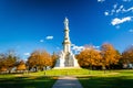
M14 51L9 51L6 54L0 54L0 73L25 73L45 70L52 68L55 64L58 54L50 55L45 51L34 51L28 61L22 61Z

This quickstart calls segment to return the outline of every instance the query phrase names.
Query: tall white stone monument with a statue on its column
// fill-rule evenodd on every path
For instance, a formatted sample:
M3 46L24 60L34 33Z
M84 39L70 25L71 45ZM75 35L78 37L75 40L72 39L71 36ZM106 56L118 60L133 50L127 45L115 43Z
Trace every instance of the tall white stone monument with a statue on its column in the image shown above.
M63 40L63 51L61 52L59 58L57 59L55 68L65 68L65 67L80 67L78 59L74 57L74 54L71 51L71 42L69 36L69 20L64 19L64 40Z

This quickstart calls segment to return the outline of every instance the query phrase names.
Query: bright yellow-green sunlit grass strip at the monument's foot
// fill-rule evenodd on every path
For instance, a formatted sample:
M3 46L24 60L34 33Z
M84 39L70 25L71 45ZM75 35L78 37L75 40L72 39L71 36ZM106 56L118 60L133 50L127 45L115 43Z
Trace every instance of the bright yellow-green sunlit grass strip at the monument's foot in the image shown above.
M111 74L113 72L106 70L105 74ZM103 70L89 70L89 69L82 69L82 68L72 68L72 69L51 69L45 72L38 72L32 73L29 75L47 75L47 76L64 76L64 75L74 75L74 76L84 76L84 75L105 75Z

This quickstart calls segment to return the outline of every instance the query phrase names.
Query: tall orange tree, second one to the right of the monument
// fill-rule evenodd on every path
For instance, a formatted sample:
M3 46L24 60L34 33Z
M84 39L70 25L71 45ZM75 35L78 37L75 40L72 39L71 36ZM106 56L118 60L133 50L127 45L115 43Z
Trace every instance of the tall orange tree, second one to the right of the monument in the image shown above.
M117 64L120 59L116 50L109 43L105 43L101 46L101 65L103 69L105 69L106 66L110 68L110 65L112 64Z

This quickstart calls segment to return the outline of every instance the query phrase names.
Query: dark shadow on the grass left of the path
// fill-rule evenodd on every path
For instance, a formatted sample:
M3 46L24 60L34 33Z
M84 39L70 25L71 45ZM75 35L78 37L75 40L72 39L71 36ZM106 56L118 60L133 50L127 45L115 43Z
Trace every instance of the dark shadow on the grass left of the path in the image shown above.
M0 79L0 88L51 88L54 81L53 77L13 77Z

